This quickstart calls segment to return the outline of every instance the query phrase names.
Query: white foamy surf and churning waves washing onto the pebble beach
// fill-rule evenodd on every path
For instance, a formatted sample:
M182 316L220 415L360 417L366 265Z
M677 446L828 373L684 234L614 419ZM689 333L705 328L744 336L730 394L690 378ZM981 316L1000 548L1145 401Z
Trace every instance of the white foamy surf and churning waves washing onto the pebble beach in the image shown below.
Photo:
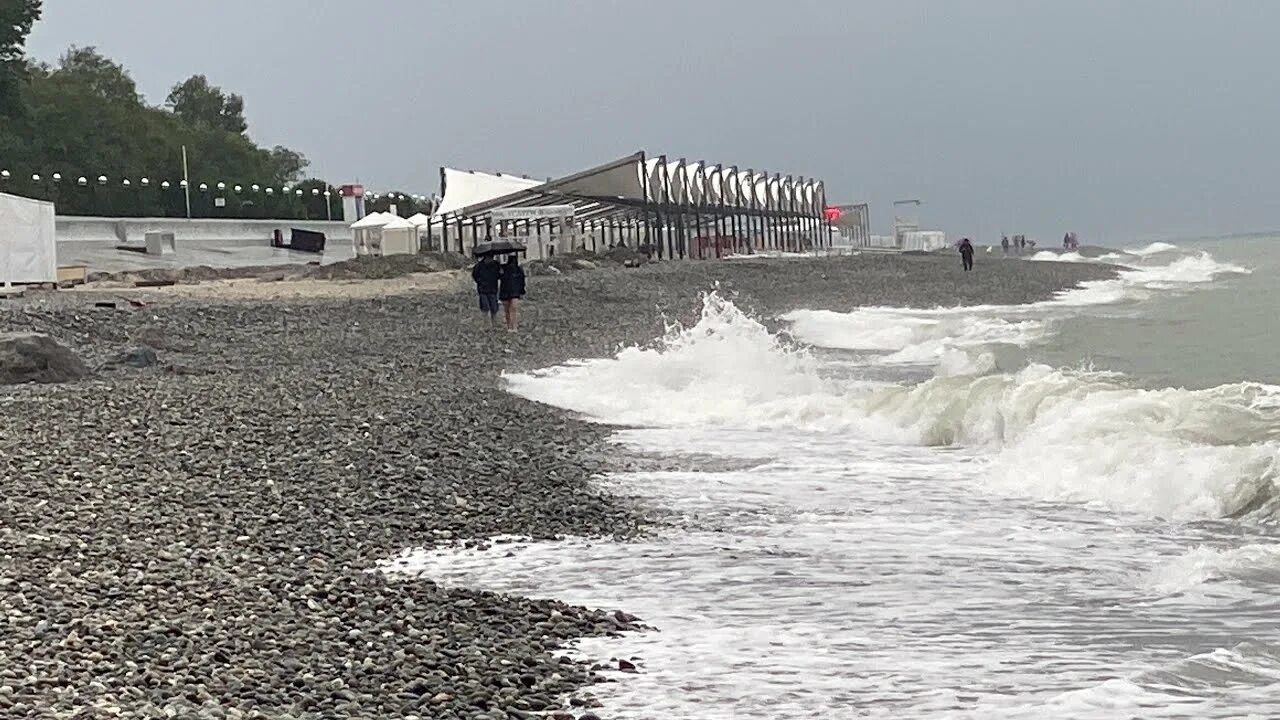
M852 352L806 351L713 295L652 346L508 375L512 392L630 425L614 441L634 450L750 461L602 478L678 520L643 542L410 551L385 569L640 615L660 632L577 646L641 659L594 688L609 717L1280 716L1280 555L1260 521L1276 505L1280 388L1147 389L1037 364L902 383L833 369L833 355L882 370L1034 346L1098 297L1222 274L1151 255L1144 274L1032 309L790 318L790 336Z

